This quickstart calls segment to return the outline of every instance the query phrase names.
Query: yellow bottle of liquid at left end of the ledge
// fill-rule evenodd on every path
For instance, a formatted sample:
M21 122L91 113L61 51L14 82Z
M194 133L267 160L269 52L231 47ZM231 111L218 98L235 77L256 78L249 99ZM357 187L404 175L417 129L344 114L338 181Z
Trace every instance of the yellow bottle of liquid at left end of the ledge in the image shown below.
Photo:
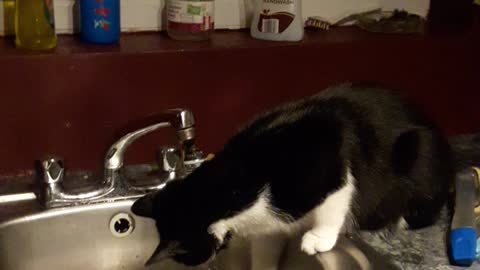
M53 0L17 0L15 45L34 50L56 47L54 21Z

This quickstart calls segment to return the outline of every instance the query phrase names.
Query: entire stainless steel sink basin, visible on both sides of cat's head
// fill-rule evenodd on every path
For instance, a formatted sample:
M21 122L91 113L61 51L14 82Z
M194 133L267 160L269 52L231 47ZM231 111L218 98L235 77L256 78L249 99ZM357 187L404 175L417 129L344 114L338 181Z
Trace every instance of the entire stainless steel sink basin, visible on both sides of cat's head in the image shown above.
M154 221L133 215L133 201L53 209L0 223L2 270L183 270L174 262L144 263L158 244ZM9 207L9 206L0 206ZM248 270L248 243L233 239L213 268ZM342 237L318 256L299 251L299 238L286 247L280 269L397 269L359 239Z

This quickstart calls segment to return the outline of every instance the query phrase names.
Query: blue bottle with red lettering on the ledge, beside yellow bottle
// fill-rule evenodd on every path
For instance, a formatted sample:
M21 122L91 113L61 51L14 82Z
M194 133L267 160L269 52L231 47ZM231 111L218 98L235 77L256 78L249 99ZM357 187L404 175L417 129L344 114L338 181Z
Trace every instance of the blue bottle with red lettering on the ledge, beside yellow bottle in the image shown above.
M120 0L80 0L80 37L92 43L117 43Z

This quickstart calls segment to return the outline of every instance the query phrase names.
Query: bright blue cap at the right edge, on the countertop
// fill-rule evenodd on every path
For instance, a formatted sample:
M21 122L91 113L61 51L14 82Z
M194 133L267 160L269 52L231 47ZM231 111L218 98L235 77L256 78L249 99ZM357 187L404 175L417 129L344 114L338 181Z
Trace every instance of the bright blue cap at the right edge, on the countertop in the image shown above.
M477 231L473 228L458 228L450 232L450 247L453 263L470 266L475 261Z

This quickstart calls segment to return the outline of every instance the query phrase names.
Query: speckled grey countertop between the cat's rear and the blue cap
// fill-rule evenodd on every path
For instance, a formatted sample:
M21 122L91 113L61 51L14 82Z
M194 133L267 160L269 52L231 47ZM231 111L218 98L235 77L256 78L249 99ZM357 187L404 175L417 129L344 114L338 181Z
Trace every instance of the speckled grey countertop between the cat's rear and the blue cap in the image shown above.
M402 270L480 270L477 261L471 267L452 266L447 257L446 214L437 224L421 230L399 230L388 237L379 234L362 233L369 245L383 254L388 254Z

